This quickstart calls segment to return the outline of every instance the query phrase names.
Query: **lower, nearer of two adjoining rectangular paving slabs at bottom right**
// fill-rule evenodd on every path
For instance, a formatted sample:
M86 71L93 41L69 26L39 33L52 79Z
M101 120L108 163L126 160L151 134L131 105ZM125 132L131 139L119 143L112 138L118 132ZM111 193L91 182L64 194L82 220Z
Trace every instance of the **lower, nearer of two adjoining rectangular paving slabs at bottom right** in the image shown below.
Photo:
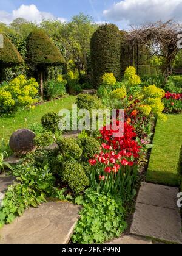
M182 243L180 213L174 209L136 203L130 233Z

